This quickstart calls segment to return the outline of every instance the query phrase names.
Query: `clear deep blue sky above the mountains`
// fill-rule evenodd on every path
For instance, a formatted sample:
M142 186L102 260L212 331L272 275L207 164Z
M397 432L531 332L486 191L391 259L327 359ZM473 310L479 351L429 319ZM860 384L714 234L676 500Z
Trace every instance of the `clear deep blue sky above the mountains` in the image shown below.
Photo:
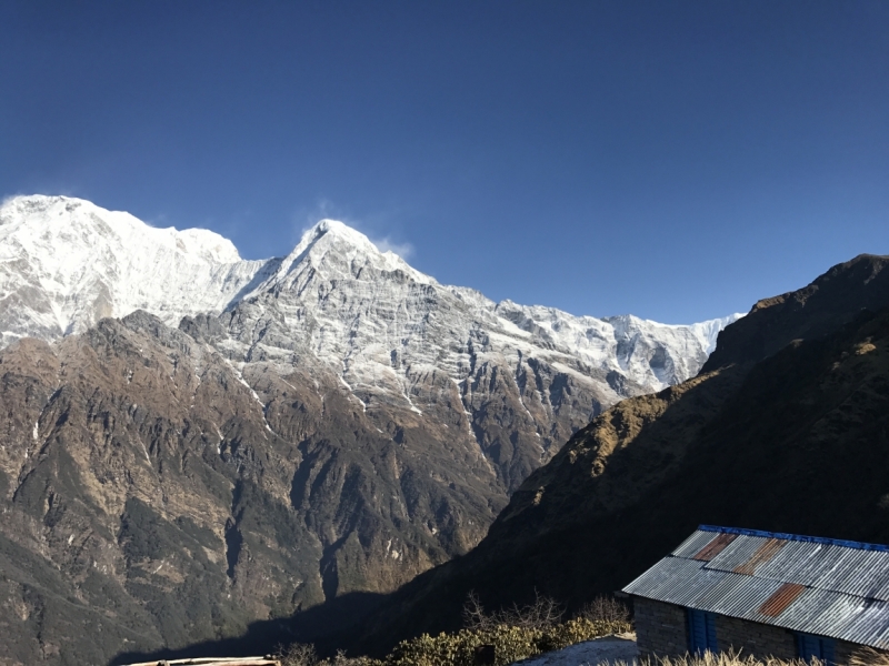
M0 195L685 323L889 254L889 2L0 2Z

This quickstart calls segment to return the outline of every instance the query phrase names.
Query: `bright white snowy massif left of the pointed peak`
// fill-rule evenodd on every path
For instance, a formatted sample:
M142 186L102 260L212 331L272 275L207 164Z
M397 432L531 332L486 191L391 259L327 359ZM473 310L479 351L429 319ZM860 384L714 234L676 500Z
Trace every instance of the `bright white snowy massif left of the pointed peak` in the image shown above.
M203 229L156 229L67 196L17 196L0 208L2 344L54 340L139 309L174 326L183 314L223 310L268 263L242 260Z

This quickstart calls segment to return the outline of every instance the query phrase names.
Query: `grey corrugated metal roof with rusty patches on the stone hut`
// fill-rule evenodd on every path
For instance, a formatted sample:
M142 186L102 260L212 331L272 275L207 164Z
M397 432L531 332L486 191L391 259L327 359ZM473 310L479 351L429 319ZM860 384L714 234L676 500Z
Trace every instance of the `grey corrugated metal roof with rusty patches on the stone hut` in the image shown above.
M701 525L623 592L889 648L886 546Z

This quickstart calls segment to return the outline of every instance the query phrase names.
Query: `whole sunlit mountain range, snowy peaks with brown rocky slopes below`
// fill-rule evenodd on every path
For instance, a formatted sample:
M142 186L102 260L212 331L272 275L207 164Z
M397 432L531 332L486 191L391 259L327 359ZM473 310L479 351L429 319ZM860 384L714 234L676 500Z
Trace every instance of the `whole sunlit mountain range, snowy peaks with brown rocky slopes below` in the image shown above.
M390 592L475 546L590 418L696 373L736 319L496 304L332 221L248 262L210 232L29 196L0 209L0 246L11 663Z

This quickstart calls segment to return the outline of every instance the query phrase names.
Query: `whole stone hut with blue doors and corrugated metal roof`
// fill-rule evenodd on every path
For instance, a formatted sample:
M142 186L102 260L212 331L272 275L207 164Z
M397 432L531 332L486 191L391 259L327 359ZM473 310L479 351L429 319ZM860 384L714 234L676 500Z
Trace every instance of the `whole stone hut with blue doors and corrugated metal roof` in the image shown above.
M701 525L623 592L643 656L843 665L889 648L887 546Z

